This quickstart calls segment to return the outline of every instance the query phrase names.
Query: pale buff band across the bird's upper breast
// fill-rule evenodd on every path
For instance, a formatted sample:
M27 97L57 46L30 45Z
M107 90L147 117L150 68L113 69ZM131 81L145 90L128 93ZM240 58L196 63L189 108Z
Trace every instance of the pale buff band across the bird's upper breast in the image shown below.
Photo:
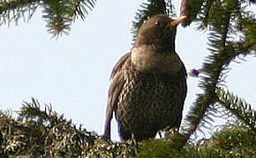
M134 47L131 58L135 68L142 72L159 71L175 75L182 68L181 61L176 53L157 52L154 47Z

